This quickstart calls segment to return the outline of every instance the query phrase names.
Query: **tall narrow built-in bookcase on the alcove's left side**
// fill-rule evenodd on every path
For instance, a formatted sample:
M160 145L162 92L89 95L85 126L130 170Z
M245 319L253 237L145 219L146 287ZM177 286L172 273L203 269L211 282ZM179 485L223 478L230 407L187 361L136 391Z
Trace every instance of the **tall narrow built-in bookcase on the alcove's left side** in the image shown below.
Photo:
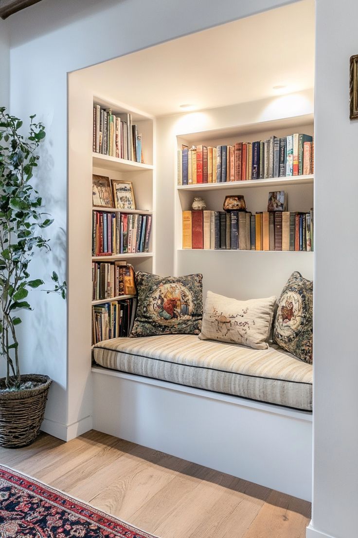
M96 112L100 114L100 121ZM123 132L126 133L124 144ZM94 97L92 138L92 173L109 178L113 189L114 182L130 182L135 200L135 209L92 206L93 343L103 338L127 336L133 321L136 294L125 293L125 288L118 287L121 277L116 273L117 268L127 262L135 271L154 271L154 118L121 103ZM115 190L113 200L116 201ZM102 274L101 269L106 272ZM103 279L101 286L106 287L105 295L103 291L99 294L99 283L96 288L97 278ZM123 293L115 294L116 289ZM101 296L105 299L98 298Z

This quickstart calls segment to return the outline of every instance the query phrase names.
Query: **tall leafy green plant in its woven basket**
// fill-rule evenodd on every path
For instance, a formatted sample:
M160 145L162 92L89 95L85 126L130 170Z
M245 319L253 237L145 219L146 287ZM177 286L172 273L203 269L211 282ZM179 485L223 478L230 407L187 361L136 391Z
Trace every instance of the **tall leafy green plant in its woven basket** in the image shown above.
M30 276L36 250L48 252L42 229L52 224L41 211L41 196L32 186L38 166L36 150L45 138L45 127L30 117L29 134L23 122L0 108L0 354L6 377L0 379L0 444L23 447L35 440L45 413L51 380L39 374L20 374L17 325L21 311L31 310L28 292L43 284ZM55 289L65 299L66 283L53 272ZM48 291L49 292L49 291Z

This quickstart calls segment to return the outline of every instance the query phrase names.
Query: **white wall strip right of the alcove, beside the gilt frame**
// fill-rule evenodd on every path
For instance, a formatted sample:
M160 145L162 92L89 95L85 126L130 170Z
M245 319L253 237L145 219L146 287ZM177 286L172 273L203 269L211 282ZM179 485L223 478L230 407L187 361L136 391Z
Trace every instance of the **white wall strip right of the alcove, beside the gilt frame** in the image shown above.
M349 121L348 96L349 56L358 53L358 3L317 0L316 6L312 527L324 537L353 538L358 529L358 122ZM343 215L343 228L331 225L334 206ZM321 534L312 530L308 536Z

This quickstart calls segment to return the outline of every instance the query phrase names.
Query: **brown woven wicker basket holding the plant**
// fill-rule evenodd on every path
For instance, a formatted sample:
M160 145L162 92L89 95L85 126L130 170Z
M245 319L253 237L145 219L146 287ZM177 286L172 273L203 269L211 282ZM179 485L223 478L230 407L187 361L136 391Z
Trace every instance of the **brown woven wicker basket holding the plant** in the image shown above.
M23 391L4 391L5 378L0 379L0 445L20 448L32 443L40 433L45 414L48 390L52 380L48 376L27 374L21 381L41 385Z

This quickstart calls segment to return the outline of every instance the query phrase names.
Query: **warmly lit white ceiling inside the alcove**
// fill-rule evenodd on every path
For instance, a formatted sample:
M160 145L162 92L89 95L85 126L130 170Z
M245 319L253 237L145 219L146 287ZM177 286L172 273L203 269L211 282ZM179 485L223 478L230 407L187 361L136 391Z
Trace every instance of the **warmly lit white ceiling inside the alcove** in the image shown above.
M83 69L81 79L94 95L164 116L183 103L199 110L313 88L314 50L315 2L303 0Z

